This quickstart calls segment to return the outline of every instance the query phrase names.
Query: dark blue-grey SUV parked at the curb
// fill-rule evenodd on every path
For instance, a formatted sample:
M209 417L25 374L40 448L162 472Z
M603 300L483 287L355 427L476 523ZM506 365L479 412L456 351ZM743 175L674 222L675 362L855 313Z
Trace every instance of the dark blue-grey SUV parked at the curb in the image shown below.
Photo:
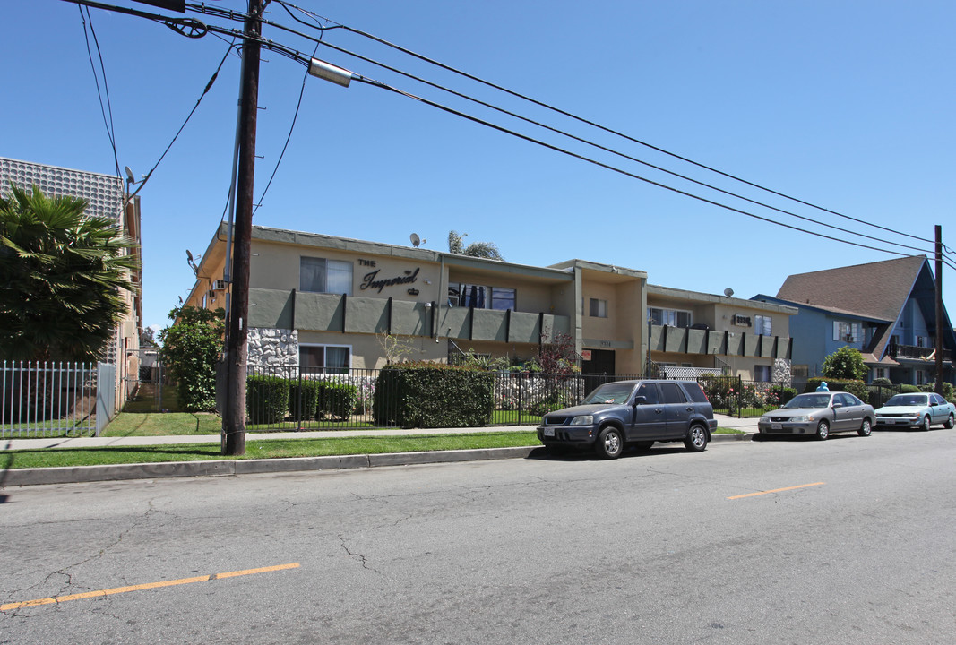
M616 459L630 444L684 441L700 452L717 428L704 390L692 380L620 380L604 383L580 405L544 416L538 439L550 447L594 448Z

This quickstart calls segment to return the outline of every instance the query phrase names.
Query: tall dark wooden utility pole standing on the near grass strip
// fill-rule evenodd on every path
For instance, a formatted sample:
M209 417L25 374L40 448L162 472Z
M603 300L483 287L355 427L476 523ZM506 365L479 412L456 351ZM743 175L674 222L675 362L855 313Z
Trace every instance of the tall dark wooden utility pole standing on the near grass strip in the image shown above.
M249 357L249 264L252 235L252 189L255 183L255 125L259 104L259 35L263 0L249 0L242 49L242 91L239 106L239 172L236 220L232 236L232 295L226 345L226 415L224 455L246 454L246 363Z

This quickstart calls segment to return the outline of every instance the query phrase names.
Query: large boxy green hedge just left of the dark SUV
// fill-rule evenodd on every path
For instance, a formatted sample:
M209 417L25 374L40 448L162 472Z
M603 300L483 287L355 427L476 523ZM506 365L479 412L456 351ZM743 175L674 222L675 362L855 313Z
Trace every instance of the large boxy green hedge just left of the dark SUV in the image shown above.
M489 425L494 374L440 363L401 363L379 373L375 422L403 428Z

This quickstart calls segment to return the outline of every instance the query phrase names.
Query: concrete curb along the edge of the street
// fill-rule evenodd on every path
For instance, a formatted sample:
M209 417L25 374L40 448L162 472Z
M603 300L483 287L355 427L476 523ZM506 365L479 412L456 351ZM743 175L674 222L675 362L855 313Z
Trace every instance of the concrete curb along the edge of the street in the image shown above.
M750 441L752 436L752 433L741 435L715 435L711 437L710 442ZM0 488L42 484L86 484L89 482L168 479L175 477L225 477L230 475L261 475L314 470L345 470L349 468L376 468L381 466L414 465L419 463L525 459L533 450L537 450L541 447L540 445L530 445L514 448L393 452L377 455L13 468L0 475Z

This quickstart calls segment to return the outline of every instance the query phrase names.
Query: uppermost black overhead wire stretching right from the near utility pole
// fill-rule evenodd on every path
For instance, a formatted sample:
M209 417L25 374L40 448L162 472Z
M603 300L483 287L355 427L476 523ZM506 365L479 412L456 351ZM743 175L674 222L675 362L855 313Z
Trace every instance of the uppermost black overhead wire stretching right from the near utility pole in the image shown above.
M896 235L901 235L901 236L903 236L903 237L908 237L908 238L911 238L911 239L914 239L914 240L918 240L918 241L920 241L920 242L927 243L927 244L934 244L934 241L933 241L933 240L928 240L928 239L926 239L926 238L919 237L919 236L917 236L917 235L911 235L911 234L909 234L909 233L905 233L905 232L902 232L902 231L899 231L899 230L895 230L895 229L889 228L889 227L887 227L887 226L876 225L876 224L873 224L873 223L871 223L871 222L867 222L867 221L865 221L865 220L861 220L861 219L856 218L856 217L851 217L851 216L849 216L849 215L844 215L844 214L839 213L839 212L837 212L837 211L835 211L835 210L831 210L831 209L825 208L825 207L823 207L823 206L819 206L819 205L816 205L816 204L812 204L812 203L810 203L810 202L806 202L806 201L804 201L804 200L801 200L801 199L792 197L792 196L790 196L790 195L787 195L787 194L785 194L785 193L782 193L782 192L773 190L773 189L771 189L771 188L768 188L768 187L766 187L766 186L760 185L760 184L758 184L758 183L752 183L752 182L750 182L750 181L748 181L748 180L742 179L742 178L737 177L737 176L735 176L735 175L732 175L732 174L730 174L730 173L728 173L728 172L719 170L719 169L717 169L717 168L714 168L714 167L712 167L712 166L706 165L706 164L701 163L701 162L699 162L699 161L693 161L693 160L688 159L688 158L686 158L686 157L684 157L684 156L681 156L681 155L678 155L678 154L676 154L676 153L673 153L673 152L670 152L670 151L668 151L668 150L665 150L665 149L663 149L662 147L653 145L653 144L648 143L648 142L643 141L643 140L636 139L636 138L634 138L634 137L631 137L631 136L629 136L629 135L626 135L626 134L624 134L624 133L621 133L621 132L619 132L619 131L617 131L617 130L614 130L614 129L612 129L612 128L608 128L608 127L606 127L606 126L600 125L599 123L597 123L597 122L595 122L595 121L592 121L592 120L590 120L590 119L578 117L578 116L576 116L576 115L574 115L574 114L572 114L572 113L570 113L570 112L567 112L567 111L562 110L562 109L560 109L560 108L556 108L556 107L554 107L554 106L552 106L552 105L549 105L548 103L544 103L544 102L539 101L539 100L537 100L537 99L535 99L535 98L525 96L525 95L520 94L520 93L518 93L518 92L514 92L514 91L512 91L512 90L509 90L509 89L506 88L506 87L503 87L503 86L498 85L498 84L496 84L496 83L492 83L492 82L490 82L490 81L488 81L488 80L485 80L485 79L483 79L483 78L480 78L479 76L471 75L471 74L468 74L467 72L463 72L463 71L458 70L458 69L456 69L456 68L454 68L454 67L451 67L451 66L449 66L449 65L445 65L445 63L442 63L442 62L439 62L439 61L434 60L434 59L432 59L432 58L429 58L429 57L427 57L427 56L424 56L423 54L417 54L417 53L415 53L415 52L413 52L413 51L411 51L411 50L408 50L408 49L406 49L406 48L404 48L404 47L402 47L402 46L400 46L400 45L396 45L395 43L392 43L392 42L389 42L389 41L387 41L387 40L385 40L385 39L383 39L383 38L380 38L379 36L376 36L376 35L374 35L374 34L372 34L372 33L363 32L363 31L361 31L361 30L358 30L358 29L349 27L349 26L347 26L347 25L343 25L343 24L341 24L341 23L337 23L337 22L332 21L332 20L330 20L330 19L328 19L328 18L326 18L326 17L324 17L324 16L318 15L318 14L314 13L313 11L308 11L308 10L302 9L302 8L300 8L300 7L296 7L296 6L293 5L292 3L286 2L285 0L275 0L275 2L277 2L283 9L285 9L285 10L290 14L290 16L293 17L293 20L296 20L296 22L299 22L300 24L306 25L306 26L311 27L311 28L313 28L313 29L321 29L321 30L323 30L323 31L325 31L325 30L331 30L331 29L342 29L342 30L345 30L345 31L347 31L347 32L355 33L355 34L360 35L360 36L363 36L363 37L365 37L365 38L369 38L369 39L371 39L371 40L374 40L375 42L378 42L378 43L380 43L380 44L382 44L382 45L385 45L386 47L390 47L390 48L392 48L392 49L394 49L394 50L397 50L397 51L399 51L399 52L402 52L402 54L407 54L407 55L410 55L410 56L412 56L412 57L414 57L414 58L417 58L417 59L419 59L419 60L422 60L422 61L424 61L424 62L427 62L427 63L429 63L429 64L435 65L435 66L437 66L437 67L439 67L439 68L441 68L441 69L444 69L444 70L447 71L447 72L451 72L451 73L456 74L456 75L464 76L464 77L466 77L466 78L468 78L468 79L470 79L470 80L473 80L473 81L475 81L475 82L481 83L481 84L483 84L483 85L486 85L486 86L488 86L488 87L490 87L490 88L493 88L493 89L495 89L495 90L498 90L498 91L500 91L500 92L504 92L504 93L506 93L506 94L508 94L508 95L511 95L512 97L517 97L517 98L521 98L522 100L529 101L529 102L533 103L534 105L537 105L537 106L539 106L539 107L543 107L543 108L545 108L545 109L547 109L547 110L550 110L550 111L552 111L552 112L555 112L555 113L557 113L557 114L560 114L560 115L562 115L562 116L564 116L564 117L573 118L573 119L575 119L575 120L577 120L577 121L579 121L579 122L581 122L581 123L585 123L585 124L587 124L587 125L590 125L590 126L592 126L592 127L597 128L597 129L599 129L599 130L602 130L602 131L604 131L604 132L607 132L607 133L609 133L609 134L612 134L612 135L614 135L614 136L617 136L617 137L619 137L619 138L622 138L622 139L624 139L624 140L629 140L629 141L632 141L632 142L634 142L634 143L638 143L638 144L640 144L640 145L642 145L642 146L644 146L644 147L647 147L647 148L649 148L649 149L651 149L651 150L654 150L654 151L656 151L656 152L660 152L660 153L662 153L662 154L664 154L664 155L667 155L667 156L669 156L669 157L671 157L671 158L673 158L673 159L677 159L677 160L680 160L680 161L684 161L684 162L686 162L686 163L690 163L690 164L692 164L692 165L695 165L695 166L697 166L697 167L703 168L703 169L705 169L705 170L707 170L707 171L709 171L709 172L716 173L716 174L718 174L718 175L721 175L721 176L726 177L726 178L728 178L728 179L731 179L731 180L733 180L733 181L740 182L740 183L745 183L745 184L747 184L747 185L750 185L751 187L754 187L754 188L757 188L757 189L759 189L759 190L763 190L763 191L769 192L769 193L771 193L772 195L776 195L776 196L778 196L778 197L782 197L782 198L784 198L784 199L786 199L786 200L793 201L793 202L795 202L795 203L797 203L797 204L803 204L803 205L806 205L806 206L810 206L810 207L815 208L815 209L817 209L817 210L820 210L820 211L823 211L823 212L826 212L826 213L830 213L830 214L832 214L832 215L836 215L836 216L838 216L838 217L841 217L841 218L844 218L844 219L847 219L847 220L851 220L851 221L857 222L858 224L863 224L863 225L866 225L866 226L873 226L873 227L875 227L875 228L879 228L880 230L883 230L883 231L886 231L886 232L889 232L889 233L893 233L893 234L896 234ZM290 11L290 8L291 8L291 9L294 9L295 11L300 11L300 12L302 12L303 14L309 15L309 16L315 18L315 19L321 19L321 20L325 21L326 23L333 23L333 24L332 24L332 26L328 26L328 25L327 25L327 26L323 26L323 27L315 27L315 25L310 25L309 23L306 23L306 22L304 22L304 21L298 19L296 16L294 16L294 15L293 15L293 12ZM326 46L330 46L330 44L327 43L327 42L326 42L326 43L323 43L323 44L325 44ZM821 223L821 222L815 222L815 223L816 223L816 224L823 225L823 226L829 226L829 225L825 225L825 224L823 224L823 223ZM862 237L867 237L867 236L862 235L862 234L859 234L859 233L854 233L854 234L861 235ZM870 238L870 239L877 239L877 238ZM889 241L886 241L886 240L880 240L880 241L881 241L881 242L886 242L886 243L889 243L889 244L896 244L896 243L892 243L892 242L889 242ZM901 247L902 247L903 245L898 245L898 246L901 246ZM914 247L909 247L909 248L914 248ZM949 252L953 252L953 251L949 250Z

